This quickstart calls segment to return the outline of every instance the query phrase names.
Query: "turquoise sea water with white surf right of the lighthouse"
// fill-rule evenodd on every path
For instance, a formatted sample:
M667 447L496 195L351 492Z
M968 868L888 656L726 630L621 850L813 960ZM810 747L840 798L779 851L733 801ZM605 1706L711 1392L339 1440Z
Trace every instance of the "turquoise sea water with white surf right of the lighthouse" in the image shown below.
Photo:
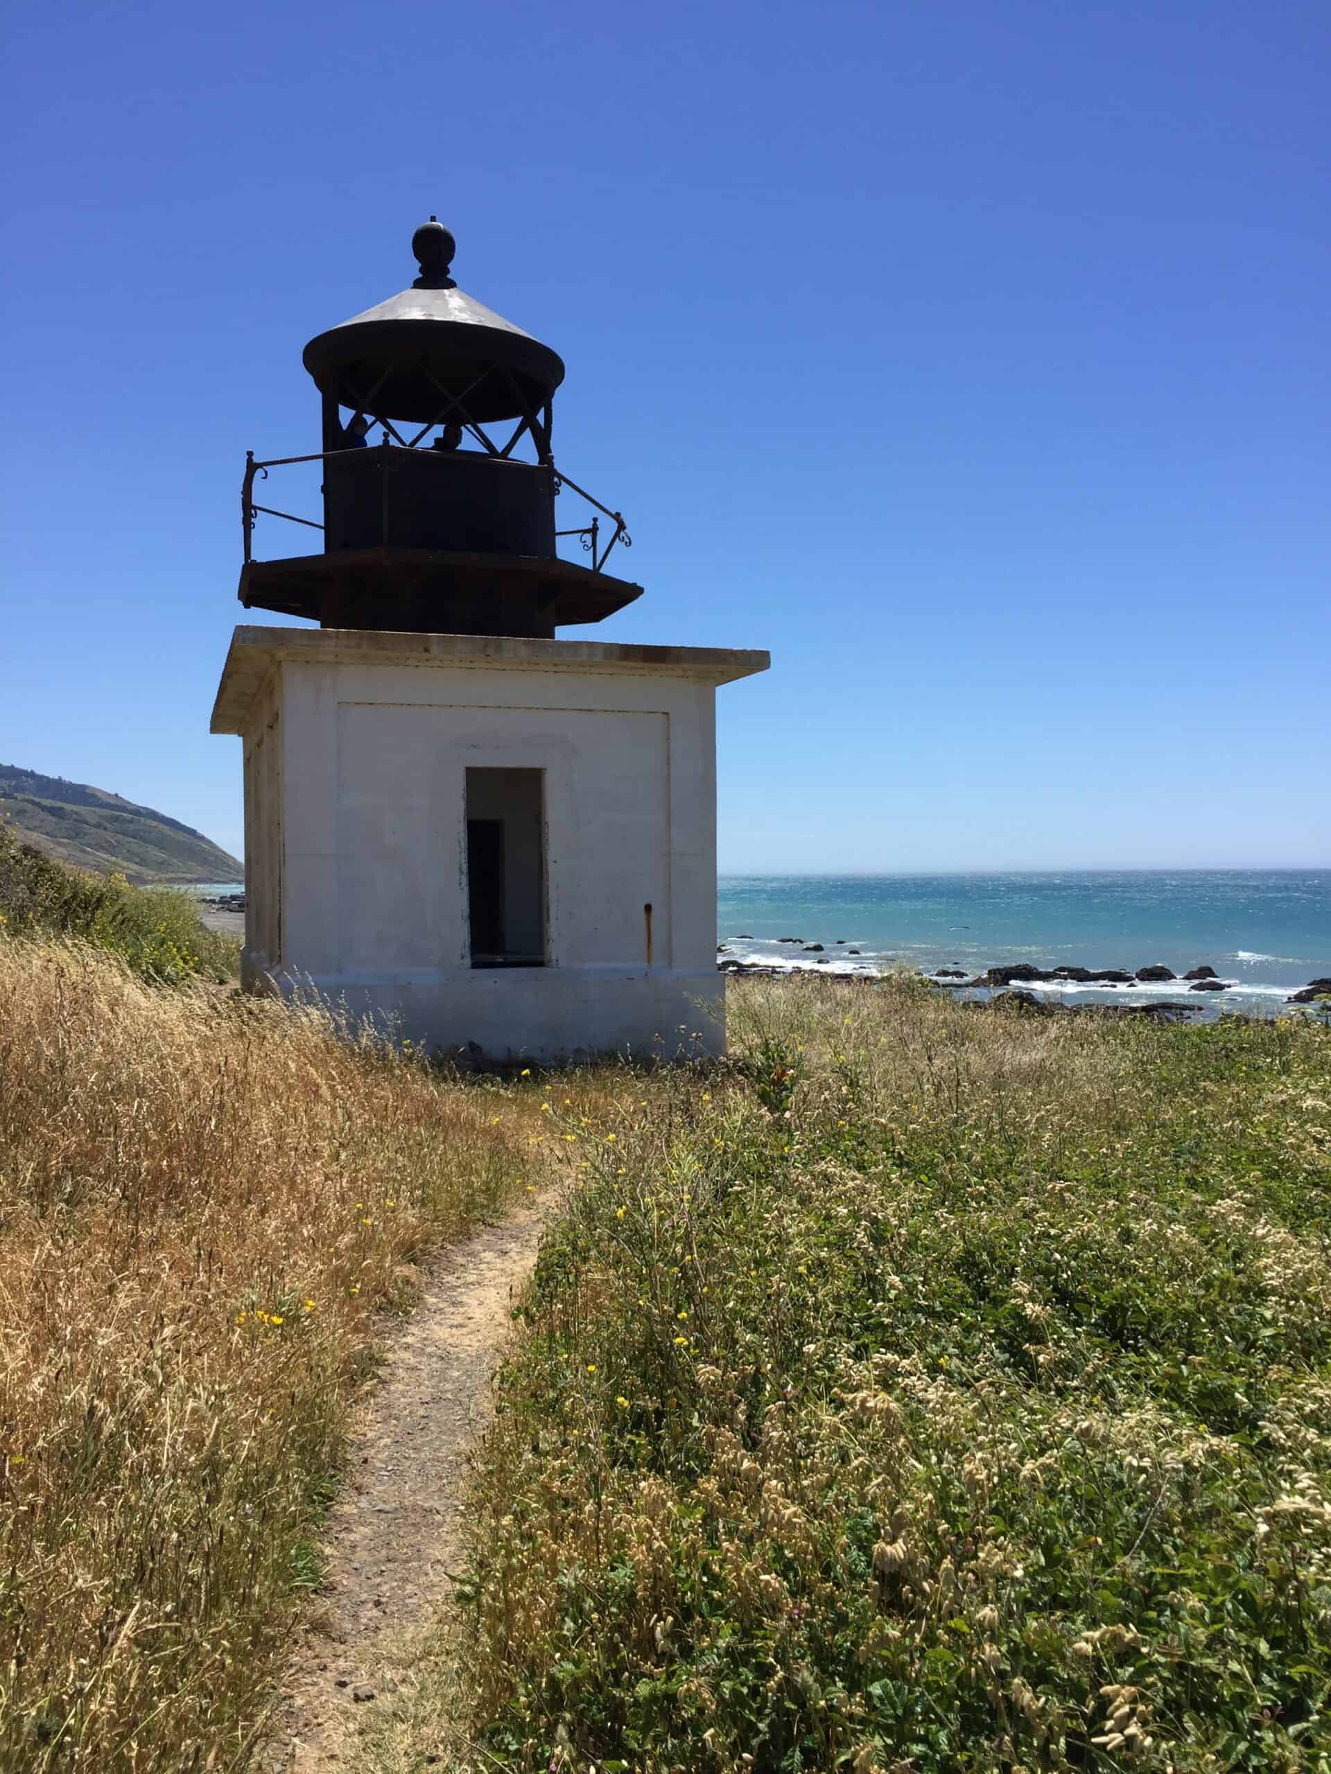
M781 944L822 942L825 956ZM740 940L744 938L744 940ZM838 947L838 938L843 938ZM1207 963L1230 992L1187 986L1054 986L1074 1002L1178 999L1271 1013L1331 976L1331 869L1216 869L1061 875L729 875L717 942L736 960L877 970L935 967L1122 967ZM848 956L847 949L861 949Z

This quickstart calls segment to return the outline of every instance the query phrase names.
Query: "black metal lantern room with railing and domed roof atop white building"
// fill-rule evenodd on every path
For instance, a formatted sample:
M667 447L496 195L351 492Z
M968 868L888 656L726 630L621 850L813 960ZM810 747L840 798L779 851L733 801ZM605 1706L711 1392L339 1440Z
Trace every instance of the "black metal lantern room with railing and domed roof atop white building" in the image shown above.
M555 470L559 357L458 289L453 234L412 236L410 289L311 339L323 397L318 456L256 461L241 495L240 600L325 628L552 637L600 623L642 587L602 571L625 522ZM323 467L323 523L279 511L264 483ZM561 491L591 507L557 518ZM254 559L257 518L323 529L323 553ZM582 553L561 559L557 548Z

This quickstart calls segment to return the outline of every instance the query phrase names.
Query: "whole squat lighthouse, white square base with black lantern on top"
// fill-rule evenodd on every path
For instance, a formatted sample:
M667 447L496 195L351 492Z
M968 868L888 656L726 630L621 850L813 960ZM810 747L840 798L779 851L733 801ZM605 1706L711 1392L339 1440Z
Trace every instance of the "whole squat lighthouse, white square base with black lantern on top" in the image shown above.
M722 1052L715 692L768 655L557 637L642 594L625 518L555 465L555 351L412 250L305 346L319 451L245 463L240 601L319 626L238 626L213 710L241 983L493 1061Z

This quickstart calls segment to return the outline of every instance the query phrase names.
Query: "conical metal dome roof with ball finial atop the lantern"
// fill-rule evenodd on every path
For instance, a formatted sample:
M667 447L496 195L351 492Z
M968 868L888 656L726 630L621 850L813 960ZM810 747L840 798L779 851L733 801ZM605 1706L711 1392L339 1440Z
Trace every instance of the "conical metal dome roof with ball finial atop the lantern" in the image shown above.
M412 236L421 277L387 302L318 334L303 364L341 406L428 424L454 397L479 424L522 419L564 380L539 339L458 289L453 234L433 216Z

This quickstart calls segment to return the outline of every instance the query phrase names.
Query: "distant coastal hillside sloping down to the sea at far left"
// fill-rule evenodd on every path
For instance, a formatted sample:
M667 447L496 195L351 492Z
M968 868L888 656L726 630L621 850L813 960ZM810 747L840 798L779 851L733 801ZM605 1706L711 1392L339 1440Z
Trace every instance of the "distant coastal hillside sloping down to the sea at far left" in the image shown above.
M57 862L121 869L140 885L241 876L236 857L179 820L41 770L0 765L0 818Z

